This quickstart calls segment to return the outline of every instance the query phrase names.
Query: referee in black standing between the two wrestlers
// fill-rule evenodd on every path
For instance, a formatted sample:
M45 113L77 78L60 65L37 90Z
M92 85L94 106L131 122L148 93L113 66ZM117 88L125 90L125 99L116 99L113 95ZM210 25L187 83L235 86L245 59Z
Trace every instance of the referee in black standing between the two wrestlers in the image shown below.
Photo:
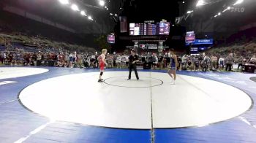
M136 78L137 80L139 80L137 67L136 67L136 62L138 61L139 61L138 55L135 55L135 50L131 50L131 55L129 55L129 77L127 80L131 80L132 69L134 69Z

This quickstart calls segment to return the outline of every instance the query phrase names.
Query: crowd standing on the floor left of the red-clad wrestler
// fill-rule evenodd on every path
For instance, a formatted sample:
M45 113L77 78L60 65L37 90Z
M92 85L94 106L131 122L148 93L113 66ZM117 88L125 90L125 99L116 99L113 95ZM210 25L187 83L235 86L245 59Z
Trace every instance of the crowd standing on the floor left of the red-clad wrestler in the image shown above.
M54 61L54 66L82 66L81 61L90 61L97 56L94 52L77 53L67 50L53 51L37 47L15 47L0 51L0 63L12 66L37 66L37 61ZM78 63L78 64L77 64Z

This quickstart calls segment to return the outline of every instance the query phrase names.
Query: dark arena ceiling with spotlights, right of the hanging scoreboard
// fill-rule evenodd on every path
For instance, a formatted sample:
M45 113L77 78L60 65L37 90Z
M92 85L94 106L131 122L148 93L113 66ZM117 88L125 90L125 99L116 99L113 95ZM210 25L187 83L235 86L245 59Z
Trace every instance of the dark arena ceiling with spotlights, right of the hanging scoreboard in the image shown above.
M238 33L238 31L245 30L243 28L244 26L256 22L255 0L247 0L242 4L232 6L234 2L236 1L223 0L216 4L208 4L196 8L196 2L194 1L189 7L186 7L187 10L193 9L194 12L182 24L187 27L187 31L195 31L197 36L200 37L208 35L216 39L227 38L230 35ZM193 7L191 6L192 4L194 4ZM236 12L230 10L217 18L211 18L217 15L218 12L222 12L228 6L238 9L236 9ZM184 13L187 10L183 9L182 12Z

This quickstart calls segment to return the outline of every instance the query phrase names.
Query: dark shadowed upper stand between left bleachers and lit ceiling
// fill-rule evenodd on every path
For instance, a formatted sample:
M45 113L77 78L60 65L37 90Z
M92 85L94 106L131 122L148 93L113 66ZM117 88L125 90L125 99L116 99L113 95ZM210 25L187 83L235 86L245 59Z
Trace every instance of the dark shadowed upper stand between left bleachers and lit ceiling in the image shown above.
M11 12L0 11L0 32L20 33L28 36L41 35L49 40L95 47L94 34L76 34L44 23L39 23Z

